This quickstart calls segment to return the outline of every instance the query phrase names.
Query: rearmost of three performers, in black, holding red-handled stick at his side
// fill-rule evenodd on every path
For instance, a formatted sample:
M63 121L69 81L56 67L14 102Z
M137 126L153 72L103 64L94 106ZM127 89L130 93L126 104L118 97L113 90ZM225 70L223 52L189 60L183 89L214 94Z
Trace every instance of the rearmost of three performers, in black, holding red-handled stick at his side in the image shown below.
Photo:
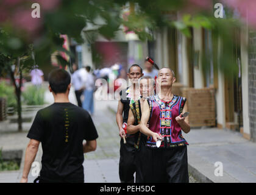
M123 124L127 126L128 114L130 106L134 101L140 99L140 89L138 87L138 79L143 76L142 68L139 65L132 65L127 73L132 86L120 91L120 100L118 101L118 109L116 112L116 123L119 128L120 141L120 159L119 159L119 179L122 183L134 183L133 174L136 171L135 166L135 147L134 135L126 134ZM123 137L126 137L124 144Z

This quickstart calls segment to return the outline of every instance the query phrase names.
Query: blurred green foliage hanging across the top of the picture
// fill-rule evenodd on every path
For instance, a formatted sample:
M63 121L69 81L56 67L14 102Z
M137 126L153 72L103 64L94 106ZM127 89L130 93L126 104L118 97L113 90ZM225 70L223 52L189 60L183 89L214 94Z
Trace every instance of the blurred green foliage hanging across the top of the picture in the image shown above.
M218 34L223 44L229 46L232 38L229 33L232 32L234 23L228 18L233 17L232 10L225 6L227 18L216 19L213 16L212 7L213 2L216 1L205 1L206 7L198 2L190 0L63 0L51 11L43 10L44 14L38 20L38 24L41 21L40 28L35 31L37 33L31 33L29 30L25 32L26 30L21 29L22 27L19 29L12 19L10 23L0 22L0 54L4 54L11 60L27 56L27 46L34 43L35 63L40 67L49 66L51 54L62 48L63 39L60 38L60 34L74 38L77 43L84 41L82 34L85 35L88 43L93 43L98 35L108 40L114 38L121 26L127 27L127 31L135 32L142 41L152 40L154 38L152 32L161 31L163 27L175 27L187 37L191 37L191 27L202 27L212 30L213 34ZM1 5L0 2L0 7ZM10 9L10 18L12 18L12 13L16 13L17 7L10 5ZM130 12L127 18L123 17L124 10ZM28 19L25 23L30 24L30 20ZM233 68L229 60L232 54L222 52L221 55L221 62L223 62L221 70ZM62 65L68 63L60 56L57 60ZM32 60L26 60L24 66L31 63ZM204 63L204 65L207 64L207 62ZM0 73L1 69L0 59Z

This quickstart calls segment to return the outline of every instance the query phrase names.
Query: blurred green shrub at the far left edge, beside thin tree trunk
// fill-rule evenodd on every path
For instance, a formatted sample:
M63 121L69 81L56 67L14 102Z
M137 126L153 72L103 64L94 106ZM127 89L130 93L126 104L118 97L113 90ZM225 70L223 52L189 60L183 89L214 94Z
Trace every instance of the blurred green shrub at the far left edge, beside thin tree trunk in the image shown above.
M0 82L0 97L6 98L7 107L16 108L15 90L12 85L7 85L4 81Z

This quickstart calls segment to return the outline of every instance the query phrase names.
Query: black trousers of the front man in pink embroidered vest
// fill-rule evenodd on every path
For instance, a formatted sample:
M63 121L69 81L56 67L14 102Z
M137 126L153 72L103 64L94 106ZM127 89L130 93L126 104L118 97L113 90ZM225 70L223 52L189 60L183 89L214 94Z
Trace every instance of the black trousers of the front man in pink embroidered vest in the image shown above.
M187 146L150 150L149 160L144 162L145 168L148 169L144 182L189 182Z

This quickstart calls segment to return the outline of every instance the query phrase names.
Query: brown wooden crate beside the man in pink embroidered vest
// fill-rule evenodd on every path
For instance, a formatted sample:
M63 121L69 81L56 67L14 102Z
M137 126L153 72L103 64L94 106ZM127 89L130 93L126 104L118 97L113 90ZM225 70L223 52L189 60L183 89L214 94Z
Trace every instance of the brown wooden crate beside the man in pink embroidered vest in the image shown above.
M213 88L182 88L182 96L187 98L185 110L190 112L191 127L216 126L215 93Z

